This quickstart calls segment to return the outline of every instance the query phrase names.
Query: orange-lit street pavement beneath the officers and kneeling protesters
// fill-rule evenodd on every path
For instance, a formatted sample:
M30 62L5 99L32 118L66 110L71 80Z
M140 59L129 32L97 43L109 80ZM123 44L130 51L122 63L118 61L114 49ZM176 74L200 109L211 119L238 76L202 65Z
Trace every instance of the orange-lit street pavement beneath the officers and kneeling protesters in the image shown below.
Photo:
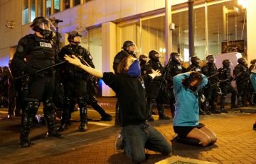
M114 98L99 98L105 110L114 117ZM206 148L187 146L172 142L171 156L164 156L146 150L146 163L164 163L173 159L171 163L255 163L256 164L256 131L252 124L256 121L256 108L247 107L251 113L243 108L233 110L228 114L201 116L201 122L215 131L218 141ZM42 109L39 110L42 113ZM166 113L170 115L168 109ZM34 123L30 138L34 145L29 148L18 147L18 136L21 117L6 118L7 109L0 108L0 163L132 163L124 153L118 153L114 148L114 141L119 134L119 127L114 126L114 119L110 122L100 121L100 115L90 109L89 130L78 131L79 111L74 112L71 126L66 131L64 139L46 138L46 126ZM158 120L150 122L170 141L174 136L172 120ZM56 120L59 124L60 119ZM167 159L166 159L167 158ZM182 160L182 159L185 159ZM179 159L179 160L176 160ZM195 160L193 160L195 159ZM171 161L171 160L169 160ZM197 161L197 162L195 162ZM205 162L204 162L205 161ZM170 162L169 162L170 163Z

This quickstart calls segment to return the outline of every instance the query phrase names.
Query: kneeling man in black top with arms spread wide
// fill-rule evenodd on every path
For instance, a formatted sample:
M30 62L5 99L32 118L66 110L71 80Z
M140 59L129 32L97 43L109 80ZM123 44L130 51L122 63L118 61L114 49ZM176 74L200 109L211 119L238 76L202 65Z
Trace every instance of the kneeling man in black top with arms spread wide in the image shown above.
M161 76L159 71L152 74L141 75L139 61L134 57L125 57L118 64L118 74L112 72L102 73L81 64L80 60L73 56L65 59L89 74L102 78L102 80L117 93L119 100L120 118L122 126L122 138L124 150L134 163L142 163L146 160L144 148L169 155L171 144L164 136L146 123L148 118L145 86L149 85L156 76Z

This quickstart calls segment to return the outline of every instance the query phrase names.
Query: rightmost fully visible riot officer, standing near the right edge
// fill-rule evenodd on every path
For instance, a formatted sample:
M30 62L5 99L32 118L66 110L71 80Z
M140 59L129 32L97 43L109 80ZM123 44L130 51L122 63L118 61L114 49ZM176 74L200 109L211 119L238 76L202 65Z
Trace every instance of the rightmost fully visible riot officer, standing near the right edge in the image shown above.
M238 58L238 64L235 66L233 73L238 89L238 105L247 106L247 88L249 86L250 73L247 67L247 61L244 58Z

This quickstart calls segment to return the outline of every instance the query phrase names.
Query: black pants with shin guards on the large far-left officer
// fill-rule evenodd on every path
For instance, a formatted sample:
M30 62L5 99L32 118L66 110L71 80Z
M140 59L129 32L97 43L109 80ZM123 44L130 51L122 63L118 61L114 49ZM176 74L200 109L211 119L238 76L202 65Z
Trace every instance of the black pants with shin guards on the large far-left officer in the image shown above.
M21 142L28 140L33 118L38 112L40 102L43 102L43 115L46 119L48 133L54 131L55 117L53 104L54 76L53 74L39 74L29 77L28 95L24 99L26 107L22 111L21 118Z

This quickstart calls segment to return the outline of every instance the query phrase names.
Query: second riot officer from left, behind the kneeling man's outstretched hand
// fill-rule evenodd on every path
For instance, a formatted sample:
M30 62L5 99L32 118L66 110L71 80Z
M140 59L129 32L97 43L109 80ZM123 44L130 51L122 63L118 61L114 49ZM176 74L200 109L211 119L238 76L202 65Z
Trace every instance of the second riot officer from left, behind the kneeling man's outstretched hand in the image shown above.
M87 49L80 46L82 35L78 30L73 30L68 34L69 45L66 45L60 49L58 57L64 60L65 54L68 56L75 55L81 59L82 62L86 61L91 67L95 67L92 63L92 56ZM84 61L83 61L84 60ZM70 124L70 115L75 107L75 99L78 101L80 108L80 131L87 131L87 101L89 99L87 95L87 81L89 80L89 74L82 69L79 69L72 64L65 63L60 68L61 81L64 86L64 107L63 116L58 127L58 131L63 131L68 128Z

